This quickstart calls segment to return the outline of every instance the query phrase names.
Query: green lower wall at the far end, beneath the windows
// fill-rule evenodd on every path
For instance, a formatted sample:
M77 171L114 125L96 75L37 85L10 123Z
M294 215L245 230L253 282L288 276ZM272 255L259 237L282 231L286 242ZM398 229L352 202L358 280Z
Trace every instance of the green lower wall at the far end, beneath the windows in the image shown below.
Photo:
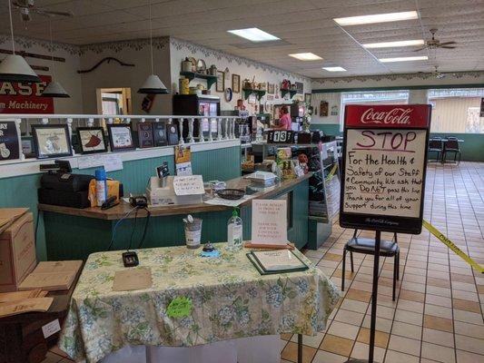
M321 130L328 135L341 135L339 123L313 123L311 130ZM462 160L468 162L484 162L484 133L455 133L455 132L431 132L430 136L446 137L456 136L460 142Z

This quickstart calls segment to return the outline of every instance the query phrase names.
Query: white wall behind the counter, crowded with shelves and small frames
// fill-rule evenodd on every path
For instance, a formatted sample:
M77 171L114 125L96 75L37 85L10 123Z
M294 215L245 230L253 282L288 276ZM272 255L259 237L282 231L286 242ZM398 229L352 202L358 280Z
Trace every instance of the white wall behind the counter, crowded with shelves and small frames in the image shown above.
M300 74L291 74L278 68L274 68L267 64L260 64L245 58L237 57L232 54L226 54L219 52L210 48L206 48L202 45L192 44L185 42L180 39L171 38L170 39L170 59L172 63L172 89L178 90L178 80L180 79L180 71L182 70L182 61L187 56L193 56L195 59L202 58L205 64L210 67L215 64L219 71L229 69L229 73L225 74L225 87L232 88L232 74L239 74L241 76L241 93L233 93L232 101L226 102L224 98L224 93L218 93L215 91L215 84L212 85L211 91L212 95L217 95L221 98L221 109L222 111L233 110L237 104L237 100L242 98L242 81L245 78L252 80L255 76L255 82L269 82L280 85L284 78L287 78L292 82L302 82L304 83L304 93L311 93L311 79L303 77ZM197 83L202 83L206 87L204 80L194 79L190 85L195 86ZM173 92L174 93L174 92ZM262 104L267 101L268 94L262 97ZM279 96L278 98L275 98ZM297 96L297 95L296 95ZM294 96L294 97L296 97ZM303 95L301 94L301 99ZM246 101L244 101L247 109L253 112L253 107L250 106ZM274 94L274 100L270 101L272 104L281 103L291 103L291 101L285 101L281 98L281 95Z

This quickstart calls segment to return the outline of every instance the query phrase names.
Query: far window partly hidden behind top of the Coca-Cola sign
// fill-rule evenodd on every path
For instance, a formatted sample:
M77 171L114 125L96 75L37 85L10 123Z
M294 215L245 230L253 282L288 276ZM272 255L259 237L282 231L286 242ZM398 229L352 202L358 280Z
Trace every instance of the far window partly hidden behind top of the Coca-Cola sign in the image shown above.
M344 123L344 106L347 104L392 104L409 103L409 91L365 91L341 93L340 131Z

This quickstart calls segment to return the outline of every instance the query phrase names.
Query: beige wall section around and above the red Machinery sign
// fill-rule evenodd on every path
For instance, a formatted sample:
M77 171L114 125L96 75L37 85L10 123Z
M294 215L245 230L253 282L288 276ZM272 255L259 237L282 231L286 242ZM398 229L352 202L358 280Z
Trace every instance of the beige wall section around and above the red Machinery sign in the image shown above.
M0 35L0 48L12 49L10 36ZM22 36L15 37L15 51L25 51L32 54L51 56L50 42L27 38ZM80 69L79 47L70 44L54 43L54 56L62 57L65 63L55 62L55 81L61 83L71 98L54 98L55 113L83 113L83 96L81 91L81 76L77 74ZM4 59L6 54L0 54ZM35 71L39 75L53 75L52 61L38 58L26 57L25 60L30 65L40 65L49 67L48 72Z

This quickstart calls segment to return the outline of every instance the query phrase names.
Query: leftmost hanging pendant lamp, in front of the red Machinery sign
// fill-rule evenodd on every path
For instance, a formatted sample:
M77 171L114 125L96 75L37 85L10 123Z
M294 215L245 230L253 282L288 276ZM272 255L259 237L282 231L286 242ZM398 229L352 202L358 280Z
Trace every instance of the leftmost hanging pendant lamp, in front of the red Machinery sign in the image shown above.
M12 23L12 4L8 0L10 15L10 34L12 36L12 54L8 54L0 64L0 82L36 83L41 82L39 76L25 62L25 59L15 54L14 24Z

